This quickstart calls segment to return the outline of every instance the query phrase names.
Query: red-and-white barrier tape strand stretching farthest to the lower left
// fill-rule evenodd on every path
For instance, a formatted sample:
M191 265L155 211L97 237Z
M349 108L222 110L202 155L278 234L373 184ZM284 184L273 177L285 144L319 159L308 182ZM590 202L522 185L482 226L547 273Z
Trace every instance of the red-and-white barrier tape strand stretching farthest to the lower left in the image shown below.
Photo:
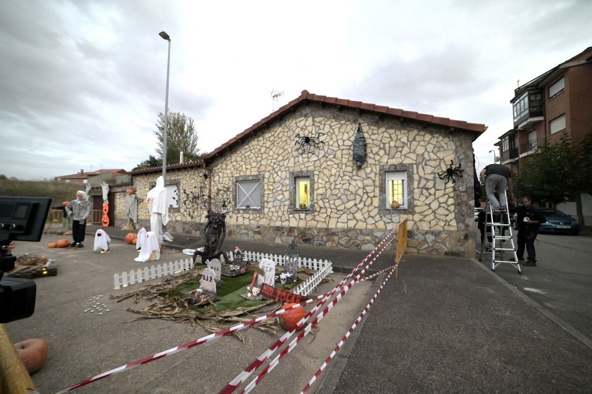
M170 348L169 350L165 350L165 351L162 351L162 352L160 352L160 353L153 354L153 355L151 355L151 356L149 356L149 357L142 358L141 360L134 361L133 363L129 363L129 364L126 364L126 365L123 365L123 366L120 366L120 367L114 368L114 369L112 369L112 370L109 370L109 371L106 371L106 372L104 372L104 373L101 373L101 374L98 374L98 375L96 375L96 376L93 376L93 377L91 377L91 378L89 378L89 379L83 380L82 382L80 382L80 383L77 383L76 385L73 385L73 386L71 386L71 387L68 387L67 389L61 390L61 391L57 392L56 394L62 394L62 393L66 393L66 392L69 392L69 391L72 391L72 390L78 389L78 387L82 387L82 386L88 385L89 383L96 382L97 380L104 379L105 377L109 377L109 376L111 376L111 375L114 375L114 374L116 374L116 373L120 373L120 372L123 372L123 371L126 371L126 370L130 370L130 369L133 369L133 368L135 368L135 367L137 367L137 366L140 366L140 365L147 364L147 363L150 363L150 362L152 362L152 361L158 360L159 358L166 357L167 355L175 354L175 353L178 353L178 352L180 352L180 351L183 351L183 350L186 350L186 349L189 349L189 348L195 347L195 346L197 346L197 345L201 345L201 344L204 344L204 343L206 343L206 342L213 341L213 340L214 340L214 339L216 339L216 338L220 338L220 337L224 337L225 335L230 335L230 334L233 334L233 333L234 333L234 332L236 332L236 331L240 331L240 330L242 330L242 329L244 329L244 328L247 328L247 327L249 327L249 326L255 325L255 324L257 324L257 323L260 323L260 322L262 322L262 321L265 321L265 320L267 320L267 319L271 319L271 318L274 318L274 317L276 317L276 316L278 316L278 315L281 315L282 313L288 312L288 310L292 310L292 309L295 309L295 308L297 308L297 307L304 306L304 305L306 305L306 304L308 304L308 303L312 303L312 302L315 302L315 301L317 301L317 300L321 300L321 303L319 303L319 304L317 305L317 307L316 307L315 309L313 309L313 310L314 310L314 312L316 312L316 310L318 310L318 308L319 308L320 306L324 305L324 303L326 302L326 300L327 300L327 299L329 299L329 297L331 297L331 296L332 296L332 295L333 295L333 294L334 294L334 293L335 293L337 290L339 290L339 289L340 289L340 287L342 287L342 286L343 286L343 283L345 283L345 281L347 281L347 280L348 280L350 277L352 277L353 273L354 273L356 270L358 270L358 268L359 268L359 267L360 267L360 266L361 266L361 265L362 265L362 264L363 264L365 261L367 261L367 260L368 260L368 258L369 258L369 257L370 257L372 254L374 254L374 252L375 252L375 251L376 251L376 250L379 248L379 246L380 246L380 245L382 245L382 243L383 243L383 242L384 242L384 241L385 241L385 240L386 240L386 239L387 239L389 236L391 236L391 234L392 234L393 232L395 232L395 230L396 230L396 228L395 228L395 229L393 229L393 230L391 230L391 232L390 232L390 233L388 233L388 235L387 235L387 236L385 236L385 238L384 238L384 239L382 239L382 241L381 241L381 242L380 242L380 243L379 243L379 244L378 244L378 245L377 245L377 246L376 246L374 249L372 249L372 251L371 251L371 252L368 254L368 256L366 256L366 258L365 258L364 260L362 260L362 262L361 262L360 264L358 264L358 265L356 266L356 268L354 268L354 269L352 270L352 272L351 272L350 274L348 274L348 276L347 276L346 278L344 278L344 279L343 279L343 280L342 280L342 281L341 281L341 282L340 282L340 283L339 283L339 284L336 286L336 288L335 288L335 289L333 289L333 290L332 290L331 292L329 292L329 293L321 294L320 296L315 296L315 297L313 297L313 298L311 298L311 299L308 299L308 300L306 300L305 302L301 302L301 303L299 303L299 304L297 304L297 305L292 305L292 306L289 306L289 307L287 307L287 308L285 308L285 309L276 310L276 312L269 313L268 315L265 315L265 316L260 316L259 318L253 319L252 321L243 322L243 323L237 324L236 326L231 326L231 327L229 327L229 328L223 329L222 331L215 332L214 334L210 334L210 335L207 335L207 336L205 336L205 337L202 337L202 338L199 338L199 339L195 339L194 341L190 341L190 342L187 342L187 343L185 343L185 344L178 345L178 346L176 346L176 347ZM391 241L392 241L392 240L391 240ZM389 241L389 242L387 243L387 245L388 245L388 244L390 244L390 242L391 242L391 241ZM385 247L386 247L386 245L385 245ZM383 250L384 250L384 248L383 248ZM381 250L381 251L380 251L380 253L377 255L377 257L378 257L378 256L379 256L381 253L382 253L382 250ZM370 264L368 264L368 266L366 266L366 267L364 268L364 270L362 270L362 271L361 271L361 273L360 273L358 276L356 276L355 280L353 280L353 281L352 281L352 283L350 283L350 285L348 285L349 287L353 286L353 284L359 283L359 282L361 282L361 281L363 281L363 280L368 280L369 278L371 278L371 277L374 277L374 276L377 276L377 275L379 274L379 273L376 273L376 274L373 274L372 276L370 276L370 277L368 277L368 278L362 278L362 279L360 279L361 275L362 275L362 274L363 274L363 273L364 273L364 272L365 272L365 271L368 269L368 267L370 267L370 265L372 265L372 262L374 262L374 261L376 260L376 258L377 258L377 257L375 257L375 258L374 258L374 259L373 259L373 260L370 262ZM312 311L311 311L311 312L312 312ZM303 321L306 321L306 319L308 319L308 317L310 317L310 316L309 316L309 315L307 315L307 316L304 316L304 318L303 318L303 319L301 319L301 321L300 321L300 322L298 322L297 326L300 326L302 323L304 323ZM289 333L289 332L288 332L288 333ZM288 334L288 333L287 333L287 334ZM284 342L285 342L285 340L287 340L288 338L289 338L289 337L287 337L286 339L284 339ZM284 342L282 342L282 344L283 344ZM276 342L276 343L277 343L277 342ZM268 356L268 357L269 357L269 356ZM265 359L266 359L266 358L265 358ZM264 361L265 361L265 360L263 360L263 362L264 362ZM259 365L260 365L260 364L259 364ZM248 376L249 376L249 375L247 375L247 376L246 376L244 379L246 379ZM243 380L242 382L244 382L244 380ZM241 382L241 383L242 383L242 382ZM239 384L239 386L240 386L240 384ZM235 387L235 388L236 388L236 387ZM233 389L233 390L234 390L234 389Z

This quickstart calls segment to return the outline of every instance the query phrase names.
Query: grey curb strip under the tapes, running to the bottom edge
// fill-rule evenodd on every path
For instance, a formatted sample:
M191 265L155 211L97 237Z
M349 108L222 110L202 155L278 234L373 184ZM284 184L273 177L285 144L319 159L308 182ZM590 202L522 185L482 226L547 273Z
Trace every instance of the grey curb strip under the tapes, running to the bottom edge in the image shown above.
M368 297L368 302L370 302L372 297L374 297L374 294L381 286L382 281L386 275L387 273L382 273L374 280L374 284L368 292L371 294L371 296ZM359 313L362 313L362 310L364 310L366 305L367 303L364 303L364 306L359 310ZM345 370L345 367L348 364L349 356L352 354L356 342L358 342L358 337L360 332L362 332L368 315L370 315L370 313L366 313L366 316L364 316L359 322L358 327L356 327L356 329L352 332L352 335L349 336L348 341L343 344L343 347L340 349L339 353L335 355L332 362L329 364L329 367L327 367L327 370L323 375L324 377L321 379L320 385L315 391L315 394L332 394L335 391L337 383L339 383L341 375L343 374L343 370Z

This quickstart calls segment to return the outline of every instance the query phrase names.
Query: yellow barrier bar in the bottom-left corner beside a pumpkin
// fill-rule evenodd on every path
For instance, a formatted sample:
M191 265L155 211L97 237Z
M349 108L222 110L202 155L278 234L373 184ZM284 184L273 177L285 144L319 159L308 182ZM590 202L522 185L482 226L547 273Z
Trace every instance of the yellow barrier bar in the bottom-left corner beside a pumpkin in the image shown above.
M4 324L0 324L0 394L37 391Z

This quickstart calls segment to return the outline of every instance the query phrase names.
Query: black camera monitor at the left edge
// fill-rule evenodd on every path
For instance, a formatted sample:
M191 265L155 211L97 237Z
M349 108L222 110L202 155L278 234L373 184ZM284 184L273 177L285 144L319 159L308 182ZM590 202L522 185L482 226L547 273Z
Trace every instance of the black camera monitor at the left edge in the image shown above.
M49 197L0 196L0 241L39 242L51 203Z

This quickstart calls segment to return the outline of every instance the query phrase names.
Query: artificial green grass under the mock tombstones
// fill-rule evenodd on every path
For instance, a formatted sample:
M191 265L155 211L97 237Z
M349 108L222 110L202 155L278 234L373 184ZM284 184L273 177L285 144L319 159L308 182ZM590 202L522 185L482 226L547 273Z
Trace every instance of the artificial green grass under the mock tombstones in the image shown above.
M258 306L267 302L269 299L263 297L260 300L247 300L240 296L240 294L247 291L247 286L253 280L253 271L249 271L241 276L222 276L224 283L216 284L216 294L220 299L215 301L215 310L233 310L239 307ZM299 284L301 280L294 283L286 284L286 289L292 289ZM169 291L169 297L182 297L194 289L200 287L200 279L196 278L193 281L186 282L175 289ZM195 310L199 312L208 312L205 307L196 306Z

